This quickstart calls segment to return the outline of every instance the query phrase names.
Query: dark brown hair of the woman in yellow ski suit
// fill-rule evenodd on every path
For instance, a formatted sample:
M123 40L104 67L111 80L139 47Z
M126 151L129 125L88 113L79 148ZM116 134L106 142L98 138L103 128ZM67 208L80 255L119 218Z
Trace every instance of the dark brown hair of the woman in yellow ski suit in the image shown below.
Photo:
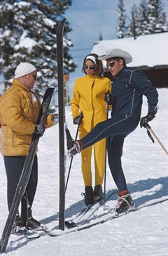
M94 63L92 58L89 58L89 56L93 56L94 57L95 63ZM94 63L94 65L95 65L94 75L101 76L102 73L104 72L104 69L103 69L102 60L99 60L99 56L96 53L90 53L87 56L85 56L85 58L83 60L83 67L82 67L82 72L84 72L85 74L87 74L85 72L85 62L86 62L86 60L91 60Z

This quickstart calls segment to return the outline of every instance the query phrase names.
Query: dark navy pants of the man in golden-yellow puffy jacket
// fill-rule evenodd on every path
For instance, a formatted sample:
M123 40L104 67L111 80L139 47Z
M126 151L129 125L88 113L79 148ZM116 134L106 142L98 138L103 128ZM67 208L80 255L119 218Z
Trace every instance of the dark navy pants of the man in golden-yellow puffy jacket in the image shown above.
M8 198L8 210L12 205L13 198L15 196L15 190L18 186L18 181L22 174L22 167L25 162L26 155L18 156L3 156L5 167L6 167L6 176L7 176L7 198ZM38 181L38 162L37 155L34 157L34 163L31 170L31 175L29 182L26 187L27 196L29 198L29 205L31 206L34 201L34 196L36 193L36 186ZM22 213L27 213L27 203L25 198L22 198Z

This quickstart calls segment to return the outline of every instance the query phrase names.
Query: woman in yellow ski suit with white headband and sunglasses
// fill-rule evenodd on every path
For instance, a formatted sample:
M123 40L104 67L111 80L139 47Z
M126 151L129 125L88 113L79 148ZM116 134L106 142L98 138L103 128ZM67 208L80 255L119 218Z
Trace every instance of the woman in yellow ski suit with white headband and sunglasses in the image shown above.
M79 138L82 139L99 122L106 120L106 102L104 95L111 91L111 81L102 77L102 61L97 54L90 54L83 60L85 77L76 79L71 98L73 124L79 126ZM83 113L83 119L80 113ZM92 188L91 157L92 146L81 151L82 173L85 184L85 205L102 200L102 183L105 171L106 139L93 145L95 187Z

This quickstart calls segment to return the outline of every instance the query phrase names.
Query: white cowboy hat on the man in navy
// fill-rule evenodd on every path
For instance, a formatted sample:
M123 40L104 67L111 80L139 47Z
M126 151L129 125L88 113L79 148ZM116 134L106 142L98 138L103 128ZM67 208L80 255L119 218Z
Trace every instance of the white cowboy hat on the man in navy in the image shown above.
M116 58L121 57L125 59L125 63L132 62L132 56L127 51L123 51L121 49L109 49L106 51L106 54L99 56L100 60L107 60L108 58Z

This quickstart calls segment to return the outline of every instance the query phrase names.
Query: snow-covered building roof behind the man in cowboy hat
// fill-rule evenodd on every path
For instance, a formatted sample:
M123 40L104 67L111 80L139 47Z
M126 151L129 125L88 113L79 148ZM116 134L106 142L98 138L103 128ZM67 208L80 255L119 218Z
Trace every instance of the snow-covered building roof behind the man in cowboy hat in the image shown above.
M92 53L101 56L108 49L122 49L128 51L132 57L130 67L168 68L168 32L139 36L137 39L127 37L124 39L98 41L92 47ZM146 67L147 66L147 67Z

